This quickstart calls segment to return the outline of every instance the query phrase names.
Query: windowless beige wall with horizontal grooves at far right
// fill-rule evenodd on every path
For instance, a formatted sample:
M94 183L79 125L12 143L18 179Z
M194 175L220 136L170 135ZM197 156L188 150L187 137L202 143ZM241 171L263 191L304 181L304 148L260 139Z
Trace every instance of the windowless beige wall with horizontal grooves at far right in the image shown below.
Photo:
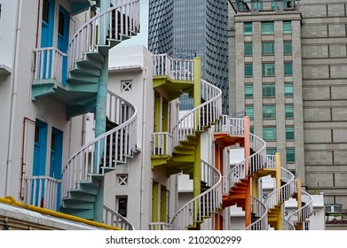
M347 3L301 1L304 151L309 190L347 208Z

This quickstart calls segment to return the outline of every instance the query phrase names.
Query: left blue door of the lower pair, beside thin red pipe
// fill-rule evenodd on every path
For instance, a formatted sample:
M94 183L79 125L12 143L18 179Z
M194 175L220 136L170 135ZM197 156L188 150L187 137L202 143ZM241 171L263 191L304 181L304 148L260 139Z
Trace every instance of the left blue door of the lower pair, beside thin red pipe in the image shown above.
M35 120L35 143L34 143L34 163L33 175L44 175L46 172L46 146L47 146L47 124L41 120ZM41 193L41 198L40 196ZM44 181L34 181L31 184L31 199L30 204L41 206L43 205Z

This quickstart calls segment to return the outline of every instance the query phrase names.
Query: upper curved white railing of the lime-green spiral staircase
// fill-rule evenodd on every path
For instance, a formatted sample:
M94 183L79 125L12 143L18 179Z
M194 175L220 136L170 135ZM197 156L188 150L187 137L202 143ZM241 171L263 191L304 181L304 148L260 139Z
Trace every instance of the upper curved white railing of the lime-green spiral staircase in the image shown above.
M210 123L217 122L220 118L222 113L222 90L208 81L201 80L201 97L206 102L185 113L172 128L173 147L177 146L180 141L185 140L186 136L192 136L195 131L202 131L203 127L208 127ZM204 107L207 107L208 113L203 111Z

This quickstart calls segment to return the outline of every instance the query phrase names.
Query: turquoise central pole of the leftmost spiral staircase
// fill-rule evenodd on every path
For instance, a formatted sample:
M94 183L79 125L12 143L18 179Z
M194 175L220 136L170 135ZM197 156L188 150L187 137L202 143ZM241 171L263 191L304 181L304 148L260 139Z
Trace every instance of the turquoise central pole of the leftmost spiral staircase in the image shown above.
M110 7L110 0L101 0L100 1L100 12L105 11ZM103 24L101 22L100 24ZM104 23L104 25L106 25ZM100 31L103 30L104 27L100 27ZM101 35L100 35L101 36ZM104 41L105 42L105 41ZM107 52L108 53L108 52ZM107 103L107 81L108 81L108 54L105 56L105 62L101 69L101 75L99 78L99 87L97 93L97 103L95 110L95 136L98 137L106 132L106 103ZM101 149L104 147L102 143L100 143ZM102 150L100 150L102 151ZM99 155L100 156L100 155ZM99 173L98 168L99 161L94 163L94 172ZM95 202L94 208L94 221L102 222L103 216L103 207L104 207L104 190L103 190L103 180L100 182L100 187L98 191L98 197Z

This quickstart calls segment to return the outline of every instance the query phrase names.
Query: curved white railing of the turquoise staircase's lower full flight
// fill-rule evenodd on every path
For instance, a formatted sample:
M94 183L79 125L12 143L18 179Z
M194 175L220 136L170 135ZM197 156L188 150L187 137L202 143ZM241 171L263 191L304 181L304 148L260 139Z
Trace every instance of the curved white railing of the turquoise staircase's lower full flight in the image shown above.
M119 155L122 156L131 156L132 152L136 151L136 117L137 117L137 109L134 105L131 105L130 102L115 95L113 92L108 91L108 96L116 97L126 106L128 106L131 110L131 114L127 116L123 122L120 123L119 126L107 131L106 133L94 138L91 142L84 144L79 150L75 151L75 153L68 159L67 165L63 168L62 171L62 189L61 189L61 198L65 198L68 196L68 190L75 190L77 187L77 182L90 182L91 177L90 174L104 174L105 167L101 168L101 161L103 164L106 164L106 156L103 156L103 151L106 153L106 143L107 138L109 138L109 143L119 142L121 147L118 150ZM115 101L114 101L115 102ZM122 107L124 107L122 105ZM117 113L122 114L122 112L114 110L115 115ZM117 138L114 138L114 135ZM122 138L118 140L118 136ZM125 139L124 139L125 137ZM115 149L117 149L117 145L114 145ZM115 153L118 155L118 151ZM110 149L112 153L113 150ZM91 158L90 158L91 157ZM122 159L121 158L121 159ZM102 160L101 160L102 159ZM112 160L112 156L109 156L109 162L113 164L115 167L115 163ZM117 160L115 162L119 162ZM124 161L125 162L125 161ZM93 165L96 163L95 165Z

